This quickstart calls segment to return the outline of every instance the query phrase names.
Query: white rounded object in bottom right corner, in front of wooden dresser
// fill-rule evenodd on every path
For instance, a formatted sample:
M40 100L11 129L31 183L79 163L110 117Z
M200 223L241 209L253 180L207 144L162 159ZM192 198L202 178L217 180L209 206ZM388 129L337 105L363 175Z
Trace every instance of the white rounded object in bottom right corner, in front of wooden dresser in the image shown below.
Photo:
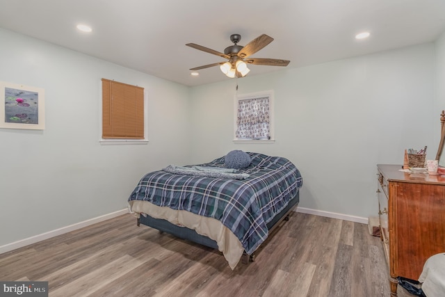
M422 291L426 296L445 296L445 252L426 260L419 282L422 283Z

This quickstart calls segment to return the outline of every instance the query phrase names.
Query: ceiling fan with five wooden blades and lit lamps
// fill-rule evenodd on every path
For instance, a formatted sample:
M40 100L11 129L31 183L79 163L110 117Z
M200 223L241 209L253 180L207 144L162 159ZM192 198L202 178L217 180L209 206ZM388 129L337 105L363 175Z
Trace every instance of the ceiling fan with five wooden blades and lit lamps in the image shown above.
M227 75L227 77L245 77L248 72L250 72L247 64L254 65L268 65L268 66L287 66L289 64L288 60L273 59L273 58L249 58L252 54L256 53L263 47L266 47L273 38L266 34L259 35L257 38L249 42L245 47L238 45L241 40L241 35L232 34L230 35L230 40L234 42L234 45L226 47L224 49L224 54L202 45L196 45L195 43L187 43L186 46L193 47L194 49L199 49L200 51L205 51L209 54L220 56L221 58L226 58L227 62L213 63L209 65L203 65L200 67L191 68L191 70L201 70L204 68L213 67L220 65L220 70Z

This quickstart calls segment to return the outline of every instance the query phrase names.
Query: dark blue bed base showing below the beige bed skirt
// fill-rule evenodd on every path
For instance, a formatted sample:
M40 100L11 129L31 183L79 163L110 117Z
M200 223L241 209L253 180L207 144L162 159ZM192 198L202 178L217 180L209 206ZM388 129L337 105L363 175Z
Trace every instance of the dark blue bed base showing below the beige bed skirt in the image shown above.
M289 202L289 204L284 207L280 213L278 213L269 223L267 223L267 227L269 230L269 234L275 230L283 220L289 220L289 214L291 211L296 209L298 206L298 202L300 201L300 191L297 192L295 197ZM140 216L137 219L137 224L146 225L148 227L152 227L154 229L159 230L160 232L166 232L168 234L172 234L174 236L179 237L180 239L186 239L188 241L192 241L194 243L199 243L203 246L207 246L209 248L218 249L218 245L216 241L210 239L207 236L197 234L195 230L189 229L187 227L179 227L175 224L168 222L168 220L163 220L161 218L152 218L151 216ZM248 264L248 262L253 262L255 258L255 253L252 255L248 255L245 251L243 252L243 257L241 257L241 262L243 264Z

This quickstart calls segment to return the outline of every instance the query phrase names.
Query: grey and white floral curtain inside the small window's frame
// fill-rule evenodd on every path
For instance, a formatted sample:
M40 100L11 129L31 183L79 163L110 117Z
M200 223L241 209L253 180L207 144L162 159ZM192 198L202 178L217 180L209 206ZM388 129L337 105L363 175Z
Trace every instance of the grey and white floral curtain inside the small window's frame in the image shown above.
M269 122L269 97L238 101L236 138L267 139Z

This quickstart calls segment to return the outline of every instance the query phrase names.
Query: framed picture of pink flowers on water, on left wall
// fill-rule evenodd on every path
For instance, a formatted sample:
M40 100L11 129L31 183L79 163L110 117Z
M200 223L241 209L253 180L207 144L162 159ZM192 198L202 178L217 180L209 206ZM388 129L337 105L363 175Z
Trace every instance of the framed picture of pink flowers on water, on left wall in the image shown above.
M0 128L44 129L44 89L0 81Z

